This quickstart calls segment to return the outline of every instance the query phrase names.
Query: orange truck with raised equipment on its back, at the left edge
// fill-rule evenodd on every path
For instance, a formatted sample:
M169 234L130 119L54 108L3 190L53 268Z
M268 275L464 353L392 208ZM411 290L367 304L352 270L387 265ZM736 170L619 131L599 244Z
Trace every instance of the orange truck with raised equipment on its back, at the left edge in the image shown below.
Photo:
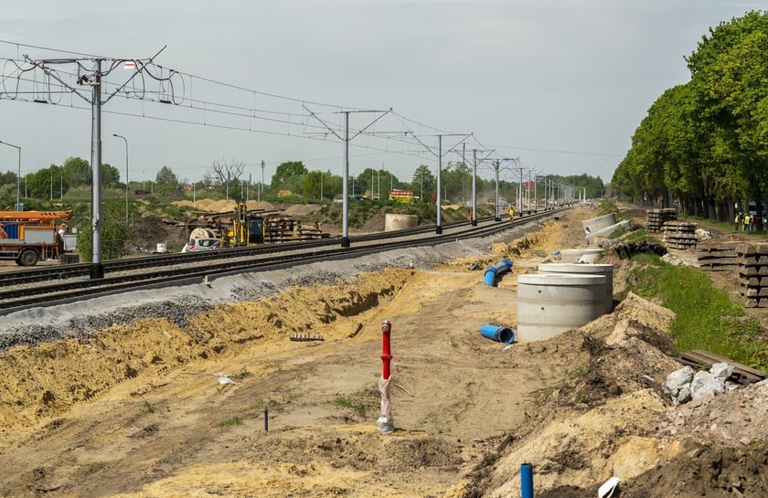
M0 211L0 260L34 266L39 260L59 259L66 249L57 222L72 216L72 211ZM67 249L74 249L69 245Z

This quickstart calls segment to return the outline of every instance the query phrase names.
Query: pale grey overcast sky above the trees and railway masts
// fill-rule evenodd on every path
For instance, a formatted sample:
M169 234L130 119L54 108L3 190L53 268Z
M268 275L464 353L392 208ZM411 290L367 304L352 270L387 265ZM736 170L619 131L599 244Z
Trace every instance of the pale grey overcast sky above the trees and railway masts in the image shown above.
M610 182L647 109L688 81L685 58L709 27L764 9L731 0L15 4L0 17L0 141L21 148L22 175L91 160L92 94L48 91L56 85L41 71L17 83L13 61L77 58L89 74L93 58L156 54L139 76L121 63L105 77L107 92L127 84L102 93L101 161L123 181L126 171L155 179L163 166L197 181L215 163L240 163L244 177L267 183L286 161L342 175L347 143L350 175L383 167L411 181L420 164L436 172L464 154L470 166L498 159L510 181L523 168L524 179ZM55 68L65 81L77 72L74 62ZM0 171L16 171L16 147L0 144ZM494 177L491 162L477 164Z

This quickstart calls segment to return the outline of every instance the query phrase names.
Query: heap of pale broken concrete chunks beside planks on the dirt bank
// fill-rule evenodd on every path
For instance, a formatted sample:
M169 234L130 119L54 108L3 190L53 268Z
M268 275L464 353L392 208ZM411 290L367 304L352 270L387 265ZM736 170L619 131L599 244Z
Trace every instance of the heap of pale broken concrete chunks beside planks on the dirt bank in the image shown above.
M676 405L707 395L718 395L739 387L727 382L732 373L733 366L727 363L716 363L709 368L709 372L702 370L696 373L690 366L683 366L667 376L664 392Z

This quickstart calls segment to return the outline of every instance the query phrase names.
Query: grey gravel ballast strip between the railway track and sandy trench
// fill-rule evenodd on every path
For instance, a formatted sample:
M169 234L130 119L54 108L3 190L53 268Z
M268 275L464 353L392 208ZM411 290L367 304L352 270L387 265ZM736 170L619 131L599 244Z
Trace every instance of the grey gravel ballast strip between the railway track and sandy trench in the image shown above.
M185 287L154 291L132 291L94 298L76 304L38 307L9 313L0 324L0 351L60 338L81 337L105 330L113 324L130 325L144 318L165 317L187 330L187 317L227 302L258 301L282 289L316 284L335 285L354 281L360 273L389 268L430 270L434 265L470 255L482 256L491 243L514 239L539 229L511 228L488 238L394 249L387 252L296 266L290 270L243 273L214 278ZM127 303L127 304L126 304Z

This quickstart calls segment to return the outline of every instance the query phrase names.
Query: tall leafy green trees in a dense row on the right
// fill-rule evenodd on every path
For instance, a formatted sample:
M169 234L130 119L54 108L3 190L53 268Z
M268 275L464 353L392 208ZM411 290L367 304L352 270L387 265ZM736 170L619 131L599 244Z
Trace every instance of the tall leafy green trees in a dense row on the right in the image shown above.
M651 105L616 168L614 193L731 220L768 186L768 13L709 28L685 58L690 80ZM760 218L760 217L758 217Z

